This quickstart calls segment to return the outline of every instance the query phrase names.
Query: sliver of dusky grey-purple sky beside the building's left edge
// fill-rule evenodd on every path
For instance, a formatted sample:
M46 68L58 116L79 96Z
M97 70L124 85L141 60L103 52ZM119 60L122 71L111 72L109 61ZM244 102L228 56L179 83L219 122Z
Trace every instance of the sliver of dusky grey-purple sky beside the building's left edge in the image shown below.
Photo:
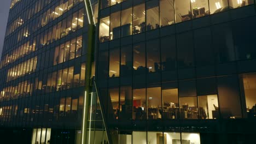
M0 4L0 58L2 54L3 49L3 43L4 43L4 34L5 34L5 28L7 25L7 19L10 9L10 2L11 0L1 0Z

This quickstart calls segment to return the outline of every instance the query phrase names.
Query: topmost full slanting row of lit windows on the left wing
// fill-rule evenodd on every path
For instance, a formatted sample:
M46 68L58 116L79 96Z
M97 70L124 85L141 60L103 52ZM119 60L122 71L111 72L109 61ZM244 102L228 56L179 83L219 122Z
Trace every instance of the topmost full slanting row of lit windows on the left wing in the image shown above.
M69 3L71 3L71 1L69 1ZM80 5L82 4L83 3L81 3ZM59 8L59 6L56 9L63 11L63 9ZM58 41L59 39L65 37L66 35L69 35L83 28L84 9L78 9L78 7L75 7L75 9L76 10L74 10L72 14L63 17L63 19L61 20L50 19L50 12L49 14L44 14L44 16L34 17L33 21L22 19L22 22L25 22L25 26L20 28L19 31L16 31L15 34L10 35L7 38L7 40L5 40L6 42L4 44L3 56L0 66L3 67L11 62L14 62L21 57L29 55L31 52L37 51L38 49L42 49L42 47L48 46L51 43L54 43L55 41ZM45 11L45 13L47 11ZM59 17L62 15L62 13L66 13L66 11L63 11L61 14L55 11L51 13ZM48 24L48 22L40 22L46 20L48 20L48 22L51 22L51 26L48 28L44 27L45 25ZM39 23L44 23L44 26L39 26ZM40 29L41 32L39 31ZM13 41L15 40L17 40L18 44L13 43ZM7 49L7 47L11 48Z

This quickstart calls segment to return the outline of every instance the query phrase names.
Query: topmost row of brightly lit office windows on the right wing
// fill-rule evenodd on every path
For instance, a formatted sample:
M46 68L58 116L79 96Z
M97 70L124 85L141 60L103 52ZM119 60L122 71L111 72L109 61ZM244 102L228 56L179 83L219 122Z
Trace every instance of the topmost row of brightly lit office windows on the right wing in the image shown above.
M106 3L109 2L108 0L102 1L102 8L105 8ZM186 0L175 2L173 0L152 0L143 2L133 1L132 5L132 1L124 1L121 3L121 9L120 6L115 5L115 7L101 10L103 16L100 19L100 42L254 4L253 1L249 0ZM109 11L111 14L107 15Z

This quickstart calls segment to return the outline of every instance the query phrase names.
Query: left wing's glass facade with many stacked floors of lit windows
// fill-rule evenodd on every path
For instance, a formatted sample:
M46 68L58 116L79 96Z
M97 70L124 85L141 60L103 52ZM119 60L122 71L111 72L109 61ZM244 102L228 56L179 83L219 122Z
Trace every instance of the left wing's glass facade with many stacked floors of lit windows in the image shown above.
M49 143L46 133L56 125L80 128L87 42L83 36L88 37L83 34L82 2L12 2L1 58L0 121L34 128L48 123L34 130L34 143Z

